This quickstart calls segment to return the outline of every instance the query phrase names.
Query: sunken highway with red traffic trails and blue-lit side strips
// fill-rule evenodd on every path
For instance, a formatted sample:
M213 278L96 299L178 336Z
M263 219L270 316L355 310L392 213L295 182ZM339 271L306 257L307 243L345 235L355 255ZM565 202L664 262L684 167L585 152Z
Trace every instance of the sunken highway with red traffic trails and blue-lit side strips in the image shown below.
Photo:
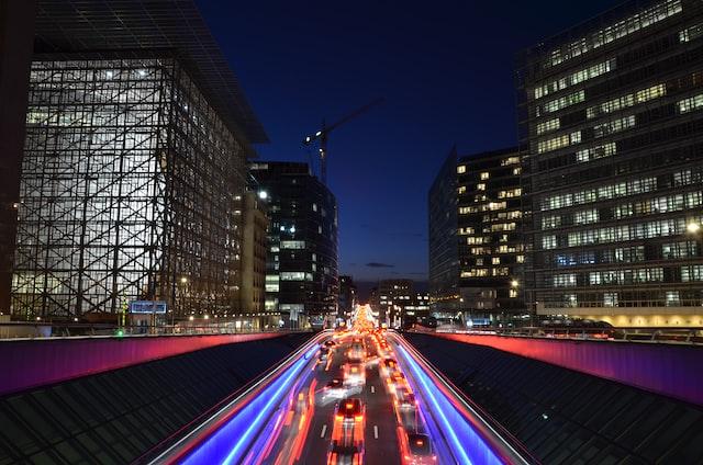
M402 337L358 310L161 451L155 463L527 461Z

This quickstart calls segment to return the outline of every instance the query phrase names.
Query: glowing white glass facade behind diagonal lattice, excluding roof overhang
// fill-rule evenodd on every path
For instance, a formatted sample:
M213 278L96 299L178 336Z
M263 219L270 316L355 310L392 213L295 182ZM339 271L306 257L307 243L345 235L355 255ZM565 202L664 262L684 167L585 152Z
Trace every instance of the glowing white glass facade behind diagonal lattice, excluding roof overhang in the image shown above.
M226 313L247 144L176 59L35 59L13 314Z

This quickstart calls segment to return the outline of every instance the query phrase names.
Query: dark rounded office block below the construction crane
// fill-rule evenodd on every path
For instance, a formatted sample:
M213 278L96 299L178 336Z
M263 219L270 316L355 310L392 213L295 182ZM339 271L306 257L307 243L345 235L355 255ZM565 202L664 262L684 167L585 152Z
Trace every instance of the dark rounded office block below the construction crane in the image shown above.
M337 314L337 203L306 163L250 165L270 224L266 263L267 311L289 325L322 325Z

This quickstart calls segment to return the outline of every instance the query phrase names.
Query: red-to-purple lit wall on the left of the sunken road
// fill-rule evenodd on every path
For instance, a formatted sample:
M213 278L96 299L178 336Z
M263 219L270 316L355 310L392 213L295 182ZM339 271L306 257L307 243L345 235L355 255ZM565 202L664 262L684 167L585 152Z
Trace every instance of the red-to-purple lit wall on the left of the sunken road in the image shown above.
M214 336L33 339L0 342L0 395L214 345L277 338L280 332Z

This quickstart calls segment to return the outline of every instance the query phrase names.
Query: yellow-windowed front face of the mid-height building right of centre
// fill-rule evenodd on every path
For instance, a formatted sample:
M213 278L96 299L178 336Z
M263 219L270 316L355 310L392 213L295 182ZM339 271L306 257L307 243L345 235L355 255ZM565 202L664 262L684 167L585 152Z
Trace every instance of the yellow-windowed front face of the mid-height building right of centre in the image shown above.
M525 309L521 174L516 148L458 160L459 295L471 313Z

